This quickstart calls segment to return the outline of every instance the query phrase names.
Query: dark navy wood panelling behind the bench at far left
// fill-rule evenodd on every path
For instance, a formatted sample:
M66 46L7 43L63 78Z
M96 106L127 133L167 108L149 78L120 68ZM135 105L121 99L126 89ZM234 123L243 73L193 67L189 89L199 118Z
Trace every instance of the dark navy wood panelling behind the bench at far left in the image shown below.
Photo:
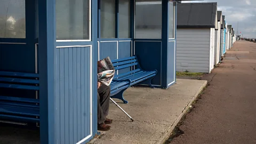
M0 70L35 73L35 49L27 44L0 44ZM4 88L0 89L0 95L36 97L35 91Z

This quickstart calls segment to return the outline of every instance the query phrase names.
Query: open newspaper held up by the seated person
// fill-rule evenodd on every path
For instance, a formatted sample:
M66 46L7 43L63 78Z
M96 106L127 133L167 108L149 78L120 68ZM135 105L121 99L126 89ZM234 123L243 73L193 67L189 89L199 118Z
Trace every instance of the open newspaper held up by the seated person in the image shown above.
M115 68L109 57L98 61L98 82L109 86L114 75Z

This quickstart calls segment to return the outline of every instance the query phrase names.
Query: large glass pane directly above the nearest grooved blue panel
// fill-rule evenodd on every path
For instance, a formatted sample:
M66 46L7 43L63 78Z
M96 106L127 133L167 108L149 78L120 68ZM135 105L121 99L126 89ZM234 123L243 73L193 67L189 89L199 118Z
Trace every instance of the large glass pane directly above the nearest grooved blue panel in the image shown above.
M56 0L56 39L90 39L90 0Z

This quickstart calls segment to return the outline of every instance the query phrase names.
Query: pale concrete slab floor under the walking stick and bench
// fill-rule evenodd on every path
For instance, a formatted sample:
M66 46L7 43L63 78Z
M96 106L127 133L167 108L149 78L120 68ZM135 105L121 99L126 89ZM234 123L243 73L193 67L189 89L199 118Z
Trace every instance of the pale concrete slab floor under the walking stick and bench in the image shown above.
M177 83L166 90L127 89L124 98L129 103L114 100L134 118L134 122L110 103L108 117L114 119L111 130L101 132L100 138L90 143L163 143L206 84L207 81L177 79Z

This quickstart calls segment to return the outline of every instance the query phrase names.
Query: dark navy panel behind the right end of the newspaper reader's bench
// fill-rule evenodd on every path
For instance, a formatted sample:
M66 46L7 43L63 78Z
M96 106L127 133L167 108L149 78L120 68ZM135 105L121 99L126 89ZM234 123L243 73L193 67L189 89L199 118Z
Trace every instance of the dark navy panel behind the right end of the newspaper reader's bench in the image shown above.
M157 69L157 75L152 79L152 84L161 85L161 43L153 41L135 41L135 55L140 66L145 70Z

